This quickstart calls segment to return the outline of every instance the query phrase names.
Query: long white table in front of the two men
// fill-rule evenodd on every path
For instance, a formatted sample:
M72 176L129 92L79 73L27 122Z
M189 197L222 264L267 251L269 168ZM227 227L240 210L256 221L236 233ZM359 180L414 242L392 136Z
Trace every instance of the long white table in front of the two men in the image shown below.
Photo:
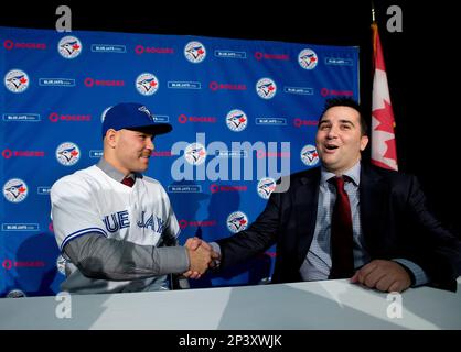
M2 298L0 329L461 329L460 286L461 278L457 293L418 287L395 295L337 279Z

